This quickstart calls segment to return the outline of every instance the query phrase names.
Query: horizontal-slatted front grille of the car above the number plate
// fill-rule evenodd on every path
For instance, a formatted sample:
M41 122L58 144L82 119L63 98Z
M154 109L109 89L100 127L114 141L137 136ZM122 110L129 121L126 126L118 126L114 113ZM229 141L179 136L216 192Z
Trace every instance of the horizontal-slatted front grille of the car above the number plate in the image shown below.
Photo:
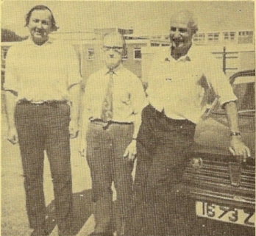
M228 158L204 158L196 156L200 165L188 165L183 179L191 196L198 200L217 201L225 204L238 203L243 207L255 208L255 165L243 165L238 186L232 185L230 165L235 161ZM225 161L224 161L225 160Z

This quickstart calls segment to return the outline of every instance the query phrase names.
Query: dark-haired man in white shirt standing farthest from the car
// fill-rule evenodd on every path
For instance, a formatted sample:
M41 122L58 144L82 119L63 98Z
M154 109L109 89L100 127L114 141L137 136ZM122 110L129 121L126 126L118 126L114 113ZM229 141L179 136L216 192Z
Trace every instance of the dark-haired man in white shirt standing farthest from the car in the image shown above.
M51 10L33 7L26 15L30 37L7 53L4 89L8 140L19 143L24 171L26 211L32 236L49 235L43 193L44 151L54 185L59 235L72 217L70 137L77 137L79 62L72 46L52 40L57 30Z

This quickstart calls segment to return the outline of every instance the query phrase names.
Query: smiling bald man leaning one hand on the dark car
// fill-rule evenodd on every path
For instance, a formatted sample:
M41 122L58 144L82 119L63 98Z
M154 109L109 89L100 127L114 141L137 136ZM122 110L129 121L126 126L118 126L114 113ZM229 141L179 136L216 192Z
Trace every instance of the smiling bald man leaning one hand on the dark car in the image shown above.
M143 109L137 138L134 211L129 217L135 224L127 227L126 235L190 235L179 186L209 87L227 112L230 151L239 162L250 156L238 129L237 98L216 60L192 46L196 31L191 12L176 12L171 18L171 49L160 51L152 62L149 105Z

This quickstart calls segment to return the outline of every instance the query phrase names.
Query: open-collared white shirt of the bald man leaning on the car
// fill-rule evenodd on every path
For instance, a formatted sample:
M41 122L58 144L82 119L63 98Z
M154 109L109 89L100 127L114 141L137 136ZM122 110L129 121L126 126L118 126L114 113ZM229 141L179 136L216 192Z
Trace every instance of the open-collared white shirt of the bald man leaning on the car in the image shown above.
M191 47L188 54L174 60L170 49L155 55L149 71L149 103L173 119L197 124L205 112L205 88L212 87L220 104L237 98L213 55Z

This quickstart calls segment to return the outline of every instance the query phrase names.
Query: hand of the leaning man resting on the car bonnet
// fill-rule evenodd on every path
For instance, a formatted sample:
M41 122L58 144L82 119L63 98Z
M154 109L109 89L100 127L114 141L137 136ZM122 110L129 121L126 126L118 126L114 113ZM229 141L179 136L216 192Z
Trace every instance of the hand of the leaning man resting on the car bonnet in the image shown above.
M230 152L237 157L238 162L246 162L247 157L251 157L249 148L242 142L240 136L232 136L230 141Z

